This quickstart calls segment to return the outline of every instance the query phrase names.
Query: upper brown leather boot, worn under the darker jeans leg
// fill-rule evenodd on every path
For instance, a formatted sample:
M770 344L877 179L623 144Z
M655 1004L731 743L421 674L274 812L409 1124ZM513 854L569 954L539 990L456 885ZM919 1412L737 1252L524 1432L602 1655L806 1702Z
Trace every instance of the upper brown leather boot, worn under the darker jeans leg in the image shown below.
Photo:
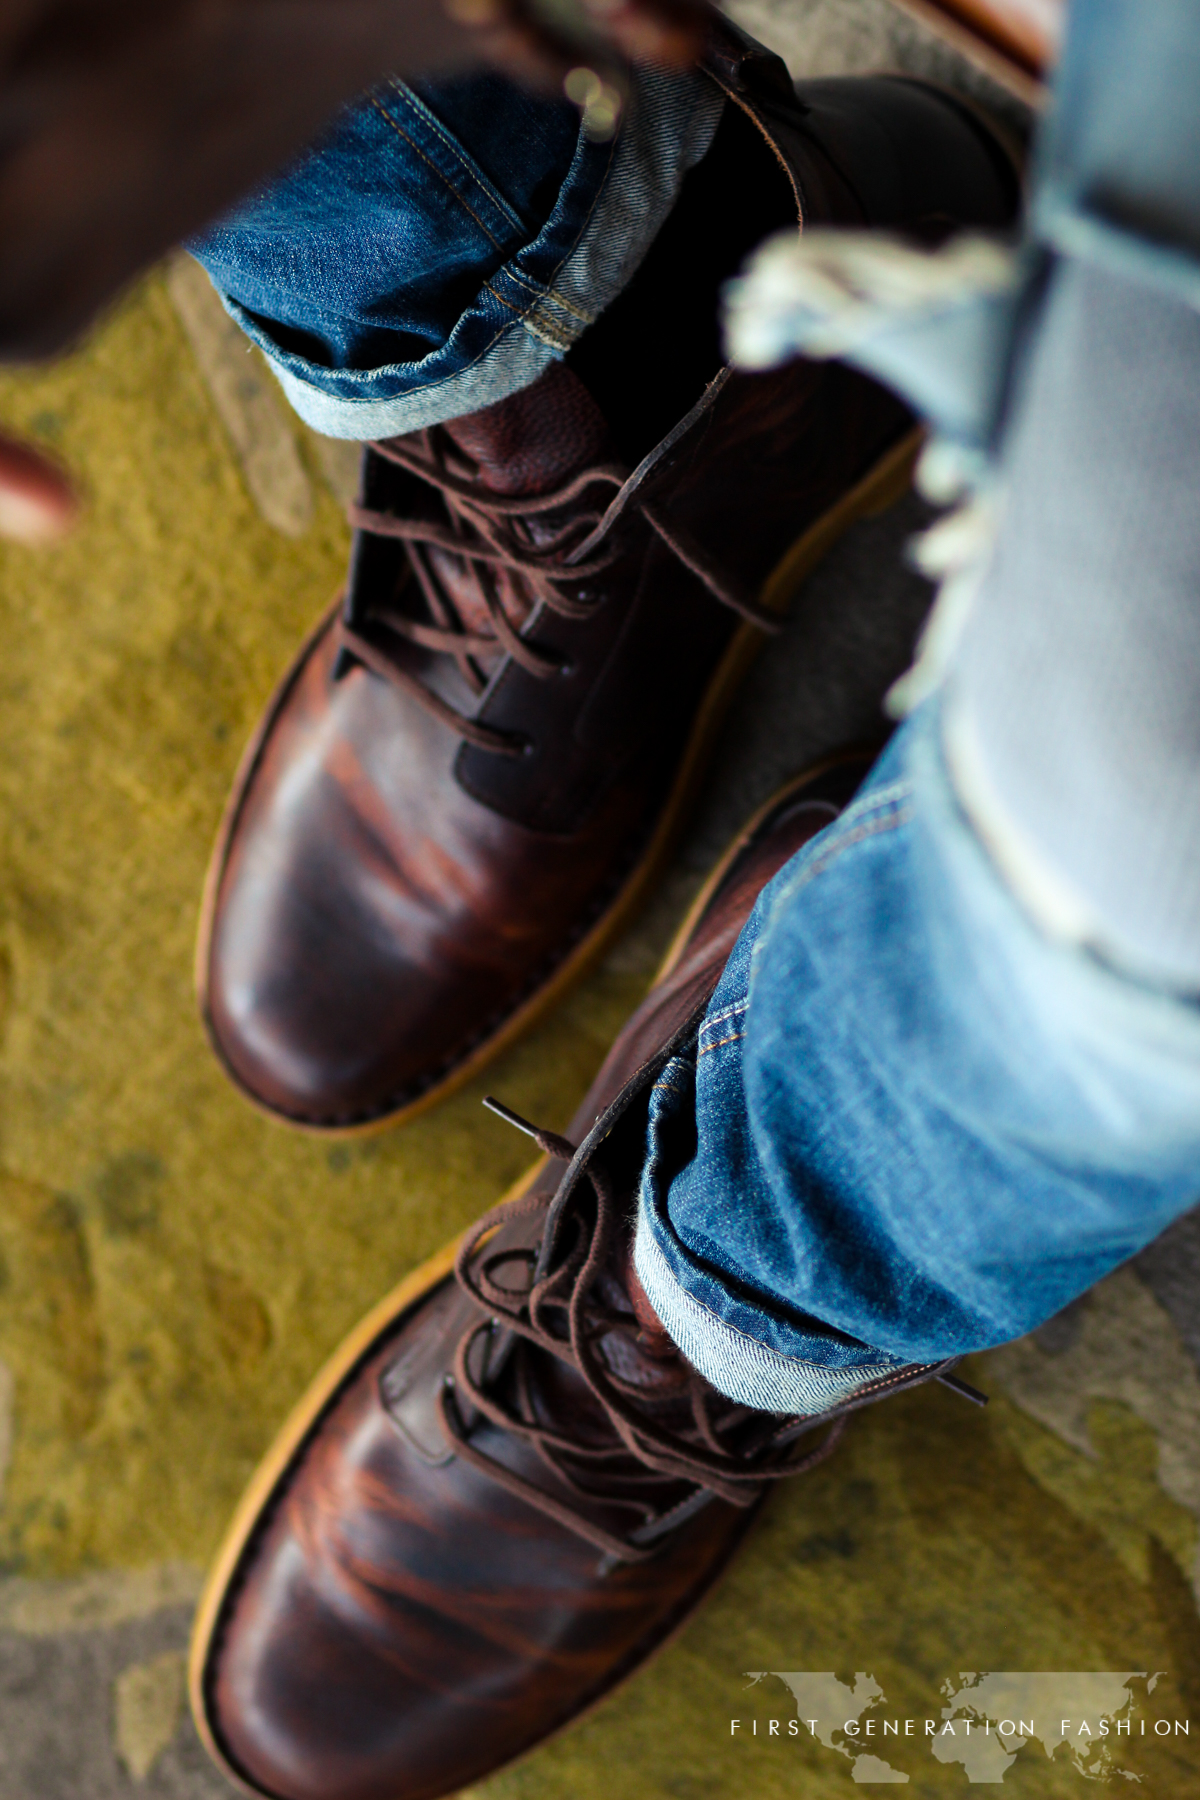
M1013 212L1004 153L937 90L797 94L732 38L711 72L792 218L945 232ZM907 479L909 414L835 364L718 371L646 450L639 419L664 410L648 346L671 394L675 346L630 295L570 365L365 455L347 598L246 752L200 931L216 1053L297 1125L432 1103L596 958L662 866L763 630ZM594 346L619 342L606 373Z

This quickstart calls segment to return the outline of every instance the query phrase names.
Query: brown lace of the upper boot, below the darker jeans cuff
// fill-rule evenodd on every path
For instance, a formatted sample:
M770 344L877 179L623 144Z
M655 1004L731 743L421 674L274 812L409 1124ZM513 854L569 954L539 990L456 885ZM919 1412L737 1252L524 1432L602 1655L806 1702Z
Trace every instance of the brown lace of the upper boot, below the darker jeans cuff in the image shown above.
M403 518L398 513L351 506L351 526L407 545L408 567L425 598L426 619L410 617L392 599L372 599L362 616L344 616L340 646L362 664L412 695L468 743L497 756L524 756L531 743L511 731L498 731L470 718L421 682L401 659L399 644L410 643L453 657L473 695L482 695L488 673L482 659L502 652L536 680L549 680L567 666L552 652L538 650L513 625L497 587L507 569L534 607L561 619L583 619L596 599L579 598L587 583L621 554L613 527L626 511L639 513L666 547L723 607L730 607L763 632L781 621L739 592L736 581L696 544L676 520L640 495L640 488L617 463L597 463L549 493L498 495L471 475L471 466L448 446L435 428L371 445L376 455L426 482L441 497L443 518ZM604 490L610 499L604 502ZM556 517L561 515L561 517ZM437 578L430 551L448 551L470 565L486 605L488 626L470 628L446 585ZM572 594L570 589L576 589ZM398 643L399 641L399 643Z

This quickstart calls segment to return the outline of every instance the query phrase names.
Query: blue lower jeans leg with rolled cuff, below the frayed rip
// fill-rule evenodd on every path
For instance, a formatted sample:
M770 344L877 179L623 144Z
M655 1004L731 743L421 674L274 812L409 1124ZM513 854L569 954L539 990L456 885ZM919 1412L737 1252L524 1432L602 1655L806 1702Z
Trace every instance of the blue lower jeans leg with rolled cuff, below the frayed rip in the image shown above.
M819 1411L1031 1330L1198 1190L1200 1008L1027 918L928 700L662 1071L637 1273L714 1386Z

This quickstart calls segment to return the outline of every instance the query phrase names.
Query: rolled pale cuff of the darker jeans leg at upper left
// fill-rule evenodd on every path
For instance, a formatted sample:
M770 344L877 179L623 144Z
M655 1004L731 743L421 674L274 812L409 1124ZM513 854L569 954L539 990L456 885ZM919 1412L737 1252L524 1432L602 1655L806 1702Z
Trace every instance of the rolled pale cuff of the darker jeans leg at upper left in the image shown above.
M700 72L639 70L626 124L596 184L581 137L551 218L480 288L448 340L419 362L326 369L281 346L236 301L225 308L270 362L291 407L326 437L394 437L529 387L637 272L687 171L709 149L725 95Z

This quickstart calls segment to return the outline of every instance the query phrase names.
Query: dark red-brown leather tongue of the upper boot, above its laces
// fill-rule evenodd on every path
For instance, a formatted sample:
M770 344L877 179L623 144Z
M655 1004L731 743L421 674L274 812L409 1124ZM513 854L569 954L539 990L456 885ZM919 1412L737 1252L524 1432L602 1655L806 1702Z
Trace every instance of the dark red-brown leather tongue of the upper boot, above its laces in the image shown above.
M495 407L443 425L491 493L549 493L588 463L612 461L604 416L578 374L552 362L545 374Z

